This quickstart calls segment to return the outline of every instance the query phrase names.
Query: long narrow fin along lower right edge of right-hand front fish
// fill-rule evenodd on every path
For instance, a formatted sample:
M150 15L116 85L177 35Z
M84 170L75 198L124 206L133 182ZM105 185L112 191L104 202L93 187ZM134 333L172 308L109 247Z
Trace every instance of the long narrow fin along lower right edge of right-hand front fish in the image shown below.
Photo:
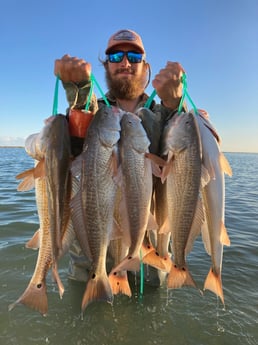
M189 236L188 236L186 247L185 247L185 255L191 252L194 241L201 233L201 226L203 222L204 222L204 212L203 212L202 200L201 198L198 198L193 223L192 223L191 230L189 232Z

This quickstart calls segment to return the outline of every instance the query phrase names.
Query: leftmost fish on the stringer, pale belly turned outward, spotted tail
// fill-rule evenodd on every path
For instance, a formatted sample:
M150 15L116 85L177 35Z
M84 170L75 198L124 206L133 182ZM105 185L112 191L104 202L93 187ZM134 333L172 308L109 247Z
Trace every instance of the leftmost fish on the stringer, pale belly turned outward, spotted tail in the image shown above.
M40 161L33 169L16 177L24 179L19 184L18 190L29 190L35 186L40 229L28 242L27 247L39 248L39 252L28 287L21 297L10 305L10 310L16 304L23 303L43 315L47 313L46 276L51 266L60 298L64 293L57 271L57 259L68 251L74 238L69 210L71 179L70 141L67 128L65 116L57 115L47 123L39 135L31 138L30 150L37 152ZM51 150L54 151L53 155L50 154ZM58 170L57 174L56 170ZM52 207L54 205L56 207Z

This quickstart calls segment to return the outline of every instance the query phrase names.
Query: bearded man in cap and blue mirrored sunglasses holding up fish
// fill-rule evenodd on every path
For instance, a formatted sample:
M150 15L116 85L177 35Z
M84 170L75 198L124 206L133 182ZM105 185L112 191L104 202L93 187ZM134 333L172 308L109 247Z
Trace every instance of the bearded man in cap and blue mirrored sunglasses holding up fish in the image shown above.
M146 61L146 52L141 37L132 30L120 30L113 34L105 50L106 59L102 61L106 73L109 103L124 111L135 112L148 99L144 92L150 79L150 66ZM143 126L151 141L150 151L159 153L159 140L165 122L171 118L179 106L182 97L181 77L184 73L177 62L167 62L152 81L161 104L153 101L150 109L152 116L142 118ZM63 56L55 62L55 74L60 77L66 91L71 109L84 109L90 89L90 63ZM100 106L105 105L103 99L96 100L93 95L90 111L96 113ZM72 137L72 152L76 156L82 150L83 138ZM87 281L89 262L84 257L78 242L70 250L71 261L69 277L79 281ZM156 270L149 270L152 276L148 280L152 285L160 285Z

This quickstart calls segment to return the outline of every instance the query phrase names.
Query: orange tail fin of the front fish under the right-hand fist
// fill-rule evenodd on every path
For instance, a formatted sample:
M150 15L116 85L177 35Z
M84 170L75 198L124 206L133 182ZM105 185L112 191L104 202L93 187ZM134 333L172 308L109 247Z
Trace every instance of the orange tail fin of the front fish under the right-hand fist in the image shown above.
M167 287L169 289L178 289L182 286L193 286L197 288L195 281L193 280L188 268L178 268L172 262L170 272L167 279Z

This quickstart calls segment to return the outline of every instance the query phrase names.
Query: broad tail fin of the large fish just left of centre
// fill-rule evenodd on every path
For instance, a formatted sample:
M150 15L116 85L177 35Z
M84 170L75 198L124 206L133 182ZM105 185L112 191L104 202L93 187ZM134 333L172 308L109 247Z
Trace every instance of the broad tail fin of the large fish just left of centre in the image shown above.
M102 276L93 274L91 279L88 281L82 298L82 312L91 302L94 301L113 303L113 293L106 274Z

